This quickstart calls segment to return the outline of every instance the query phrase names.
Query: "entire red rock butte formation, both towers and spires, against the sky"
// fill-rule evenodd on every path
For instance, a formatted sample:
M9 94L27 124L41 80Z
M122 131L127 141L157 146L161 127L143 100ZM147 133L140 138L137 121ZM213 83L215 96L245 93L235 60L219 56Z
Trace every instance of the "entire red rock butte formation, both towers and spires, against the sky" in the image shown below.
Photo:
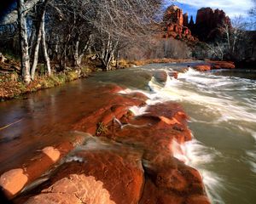
M163 18L164 37L194 42L197 38L209 42L224 35L224 27L231 27L230 18L223 10L201 8L197 11L196 21L175 5L166 9Z

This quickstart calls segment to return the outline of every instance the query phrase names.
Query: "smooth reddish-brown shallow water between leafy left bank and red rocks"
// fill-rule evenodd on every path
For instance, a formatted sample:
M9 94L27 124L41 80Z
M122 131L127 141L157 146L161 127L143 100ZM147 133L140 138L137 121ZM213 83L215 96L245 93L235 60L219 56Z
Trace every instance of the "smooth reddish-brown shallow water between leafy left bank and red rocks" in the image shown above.
M0 173L19 167L36 150L74 131L73 124L102 107L105 85L93 80L70 82L0 104ZM99 91L100 90L100 91Z

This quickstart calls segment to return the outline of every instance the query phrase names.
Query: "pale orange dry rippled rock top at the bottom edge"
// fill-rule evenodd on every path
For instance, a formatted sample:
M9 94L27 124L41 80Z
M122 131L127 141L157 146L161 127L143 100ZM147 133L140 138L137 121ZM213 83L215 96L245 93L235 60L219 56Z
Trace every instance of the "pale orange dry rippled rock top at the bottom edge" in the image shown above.
M103 183L92 176L71 174L52 184L42 194L26 201L26 204L114 204Z

